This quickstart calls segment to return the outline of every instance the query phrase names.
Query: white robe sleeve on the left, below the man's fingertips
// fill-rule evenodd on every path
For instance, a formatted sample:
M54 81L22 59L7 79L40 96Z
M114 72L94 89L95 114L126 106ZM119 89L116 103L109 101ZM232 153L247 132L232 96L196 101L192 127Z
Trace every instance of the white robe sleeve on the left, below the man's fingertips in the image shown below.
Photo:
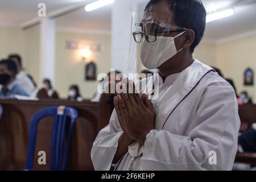
M117 113L114 110L109 125L98 133L93 143L91 158L94 169L108 171L112 166L112 160L117 151L118 140L123 131L119 126Z

